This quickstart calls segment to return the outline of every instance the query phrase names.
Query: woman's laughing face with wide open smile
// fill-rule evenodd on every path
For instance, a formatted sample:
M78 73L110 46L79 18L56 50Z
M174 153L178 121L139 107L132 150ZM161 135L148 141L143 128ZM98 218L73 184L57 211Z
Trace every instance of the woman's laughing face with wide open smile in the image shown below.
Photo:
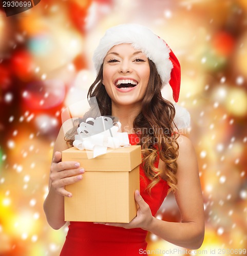
M113 46L105 56L102 83L112 103L140 105L149 75L147 57L130 44Z

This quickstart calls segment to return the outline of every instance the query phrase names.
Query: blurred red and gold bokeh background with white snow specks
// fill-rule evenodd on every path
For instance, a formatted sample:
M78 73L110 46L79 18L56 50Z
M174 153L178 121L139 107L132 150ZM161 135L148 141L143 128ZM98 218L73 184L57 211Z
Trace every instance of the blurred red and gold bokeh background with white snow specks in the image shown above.
M96 75L93 50L107 28L122 23L149 27L180 60L178 104L191 113L187 136L204 198L199 250L184 252L150 233L147 249L237 255L247 248L246 3L42 0L14 16L0 10L0 255L59 255L67 226L49 227L43 201L61 113L86 98ZM180 220L172 195L157 218Z

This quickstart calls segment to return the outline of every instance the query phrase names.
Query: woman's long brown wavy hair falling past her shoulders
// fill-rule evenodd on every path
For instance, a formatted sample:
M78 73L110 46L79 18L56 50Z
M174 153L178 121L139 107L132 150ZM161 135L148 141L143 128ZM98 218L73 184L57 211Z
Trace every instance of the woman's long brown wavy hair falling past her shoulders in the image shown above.
M142 108L133 122L135 133L139 136L139 145L142 148L142 166L146 177L151 181L147 189L154 187L161 176L166 176L169 191L177 189L177 158L178 158L178 133L175 133L174 105L165 100L161 95L162 82L157 72L155 63L149 60L150 76ZM96 97L102 116L111 116L111 99L102 84L103 65L96 80L88 90L87 97ZM91 114L86 113L86 117ZM84 116L83 119L86 119ZM72 137L67 137L72 144ZM157 156L165 163L165 170L155 167Z

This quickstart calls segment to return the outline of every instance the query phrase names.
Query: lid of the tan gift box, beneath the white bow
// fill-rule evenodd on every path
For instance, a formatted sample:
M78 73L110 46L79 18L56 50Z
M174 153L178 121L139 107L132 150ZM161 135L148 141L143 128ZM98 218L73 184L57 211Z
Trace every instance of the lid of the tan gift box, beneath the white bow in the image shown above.
M130 172L142 162L141 146L120 147L96 158L88 159L87 153L91 151L78 150L76 147L68 148L62 152L62 161L78 161L86 171Z

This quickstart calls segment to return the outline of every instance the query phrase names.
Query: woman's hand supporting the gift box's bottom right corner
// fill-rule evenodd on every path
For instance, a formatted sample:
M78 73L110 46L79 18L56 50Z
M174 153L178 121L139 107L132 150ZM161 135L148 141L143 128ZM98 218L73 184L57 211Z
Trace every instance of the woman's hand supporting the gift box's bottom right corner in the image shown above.
M151 214L151 210L149 205L143 200L139 191L135 191L135 200L138 204L137 216L130 221L129 223L96 223L95 224L105 224L108 226L115 227L124 227L124 228L142 228L144 230L148 230L151 223L154 220L154 217Z

